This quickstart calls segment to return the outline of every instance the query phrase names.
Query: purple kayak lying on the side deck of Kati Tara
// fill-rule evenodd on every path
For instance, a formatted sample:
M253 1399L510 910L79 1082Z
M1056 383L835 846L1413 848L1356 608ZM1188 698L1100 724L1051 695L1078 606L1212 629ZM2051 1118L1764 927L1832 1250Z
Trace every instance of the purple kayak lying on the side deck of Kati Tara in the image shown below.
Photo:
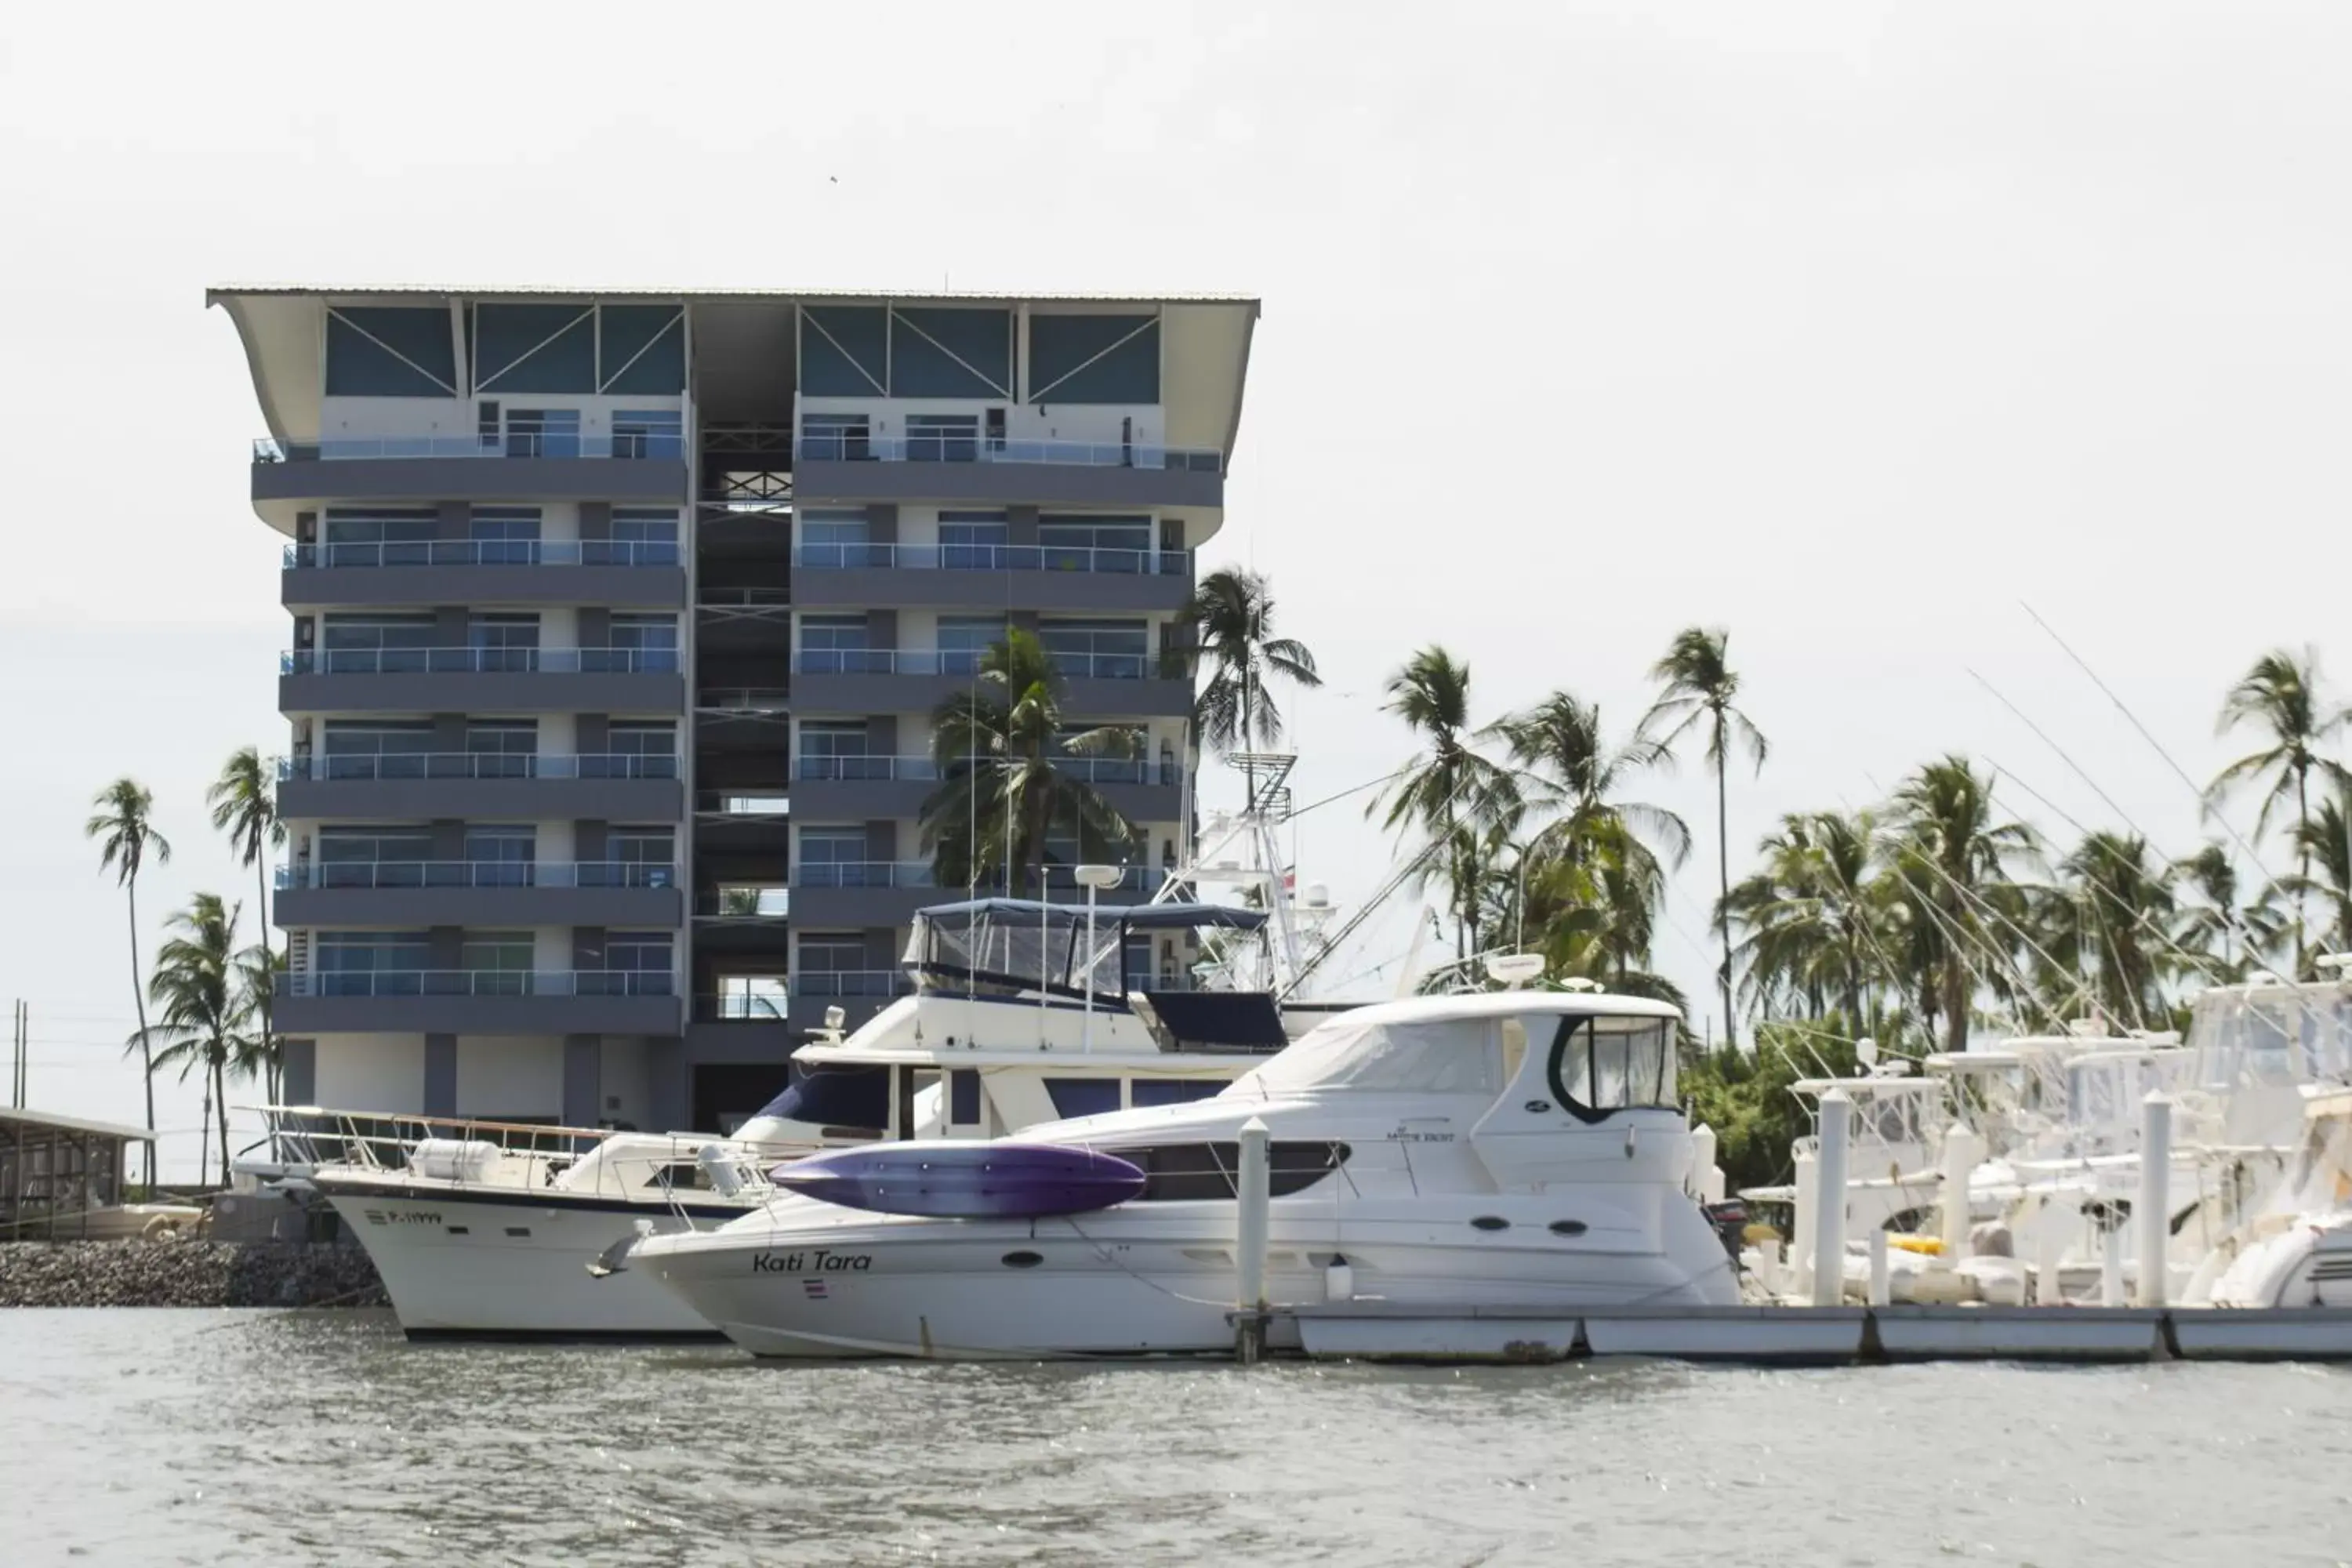
M842 1208L941 1220L1091 1213L1143 1192L1124 1159L1058 1143L880 1143L795 1159L769 1180Z

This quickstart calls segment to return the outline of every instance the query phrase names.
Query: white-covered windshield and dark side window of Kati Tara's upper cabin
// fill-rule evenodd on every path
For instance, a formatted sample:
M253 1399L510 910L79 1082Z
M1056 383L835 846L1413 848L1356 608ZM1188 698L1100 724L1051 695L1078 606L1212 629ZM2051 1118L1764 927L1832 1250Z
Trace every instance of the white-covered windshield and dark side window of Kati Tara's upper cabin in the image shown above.
M1322 1093L1486 1095L1548 1051L1552 1093L1581 1119L1675 1105L1675 1023L1609 1013L1517 1013L1371 1023L1334 1018L1240 1077L1232 1098Z

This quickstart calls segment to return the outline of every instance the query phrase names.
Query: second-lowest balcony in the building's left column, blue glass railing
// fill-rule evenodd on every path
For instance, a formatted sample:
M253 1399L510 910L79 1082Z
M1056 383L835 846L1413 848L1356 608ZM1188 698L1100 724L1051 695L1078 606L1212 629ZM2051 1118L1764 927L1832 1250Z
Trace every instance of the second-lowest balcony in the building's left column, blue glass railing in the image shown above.
M677 870L623 860L327 860L278 870L280 926L684 924Z

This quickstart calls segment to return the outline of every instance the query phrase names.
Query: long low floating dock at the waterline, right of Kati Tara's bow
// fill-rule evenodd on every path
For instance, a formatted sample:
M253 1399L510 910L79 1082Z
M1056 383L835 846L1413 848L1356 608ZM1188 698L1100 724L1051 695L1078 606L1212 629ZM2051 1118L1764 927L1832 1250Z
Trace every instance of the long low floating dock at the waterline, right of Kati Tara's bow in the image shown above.
M1877 1361L2352 1361L2336 1307L1277 1307L1310 1359L1543 1363L1588 1356L1860 1366Z

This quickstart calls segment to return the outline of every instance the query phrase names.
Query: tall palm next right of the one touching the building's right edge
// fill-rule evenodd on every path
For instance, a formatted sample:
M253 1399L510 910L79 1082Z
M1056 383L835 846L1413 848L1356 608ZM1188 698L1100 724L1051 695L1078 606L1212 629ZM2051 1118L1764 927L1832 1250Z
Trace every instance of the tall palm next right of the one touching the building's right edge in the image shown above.
M1494 827L1517 823L1510 771L1472 745L1470 665L1425 646L1388 677L1385 710L1421 736L1421 755L1374 797L1364 816L1388 811L1383 827L1418 827L1444 849L1437 863L1454 910L1454 959L1477 952L1479 877L1491 863Z

